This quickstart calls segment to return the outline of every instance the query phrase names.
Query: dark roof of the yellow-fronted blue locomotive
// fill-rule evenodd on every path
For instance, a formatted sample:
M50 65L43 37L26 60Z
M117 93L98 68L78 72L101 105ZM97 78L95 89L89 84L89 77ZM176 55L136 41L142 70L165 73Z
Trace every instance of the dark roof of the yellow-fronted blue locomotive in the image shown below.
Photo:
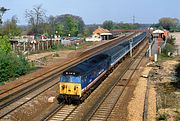
M100 62L107 59L109 56L106 54L99 54L83 61L82 63L63 72L65 75L83 75L96 67Z

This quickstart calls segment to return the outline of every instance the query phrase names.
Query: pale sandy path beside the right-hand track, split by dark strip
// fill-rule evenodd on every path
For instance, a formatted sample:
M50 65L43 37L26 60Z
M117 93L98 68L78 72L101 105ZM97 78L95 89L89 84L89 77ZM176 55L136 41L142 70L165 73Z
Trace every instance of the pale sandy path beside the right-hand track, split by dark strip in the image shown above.
M144 102L145 95L147 90L147 81L149 76L149 72L152 68L145 67L143 72L141 73L141 78L139 79L135 91L133 93L133 98L129 102L128 105L128 120L129 121L142 121L143 120L143 112L144 112ZM154 86L150 86L149 90L149 98L148 98L148 121L155 121L156 117L156 94L154 93Z

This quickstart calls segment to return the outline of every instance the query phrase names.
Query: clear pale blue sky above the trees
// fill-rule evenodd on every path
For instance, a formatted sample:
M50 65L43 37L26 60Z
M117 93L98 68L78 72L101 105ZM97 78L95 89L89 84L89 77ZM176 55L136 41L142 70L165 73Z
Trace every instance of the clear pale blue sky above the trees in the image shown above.
M18 18L26 25L25 11L41 5L46 15L73 14L85 24L102 24L105 20L132 23L157 23L162 17L180 19L180 0L0 0L0 7L10 9L3 20Z

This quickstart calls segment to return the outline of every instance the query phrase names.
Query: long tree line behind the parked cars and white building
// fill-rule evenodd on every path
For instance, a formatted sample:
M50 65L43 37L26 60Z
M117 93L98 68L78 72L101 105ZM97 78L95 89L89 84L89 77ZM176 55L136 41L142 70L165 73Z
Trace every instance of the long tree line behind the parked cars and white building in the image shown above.
M17 26L18 18L13 16L3 23L0 35L19 36L22 33L27 35L46 35L52 37L54 34L60 36L89 36L101 26L108 30L113 29L137 29L139 24L115 23L106 20L102 24L85 25L80 16L71 14L48 16L41 5L35 6L32 10L25 11L25 19L28 26Z

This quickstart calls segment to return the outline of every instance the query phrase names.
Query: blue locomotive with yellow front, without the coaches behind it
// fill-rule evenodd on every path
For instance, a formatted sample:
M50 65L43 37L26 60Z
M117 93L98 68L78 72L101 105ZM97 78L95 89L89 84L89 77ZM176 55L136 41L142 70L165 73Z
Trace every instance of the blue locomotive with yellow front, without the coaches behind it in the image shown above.
M96 81L105 73L110 64L110 57L96 55L66 71L60 76L60 101L79 100Z

